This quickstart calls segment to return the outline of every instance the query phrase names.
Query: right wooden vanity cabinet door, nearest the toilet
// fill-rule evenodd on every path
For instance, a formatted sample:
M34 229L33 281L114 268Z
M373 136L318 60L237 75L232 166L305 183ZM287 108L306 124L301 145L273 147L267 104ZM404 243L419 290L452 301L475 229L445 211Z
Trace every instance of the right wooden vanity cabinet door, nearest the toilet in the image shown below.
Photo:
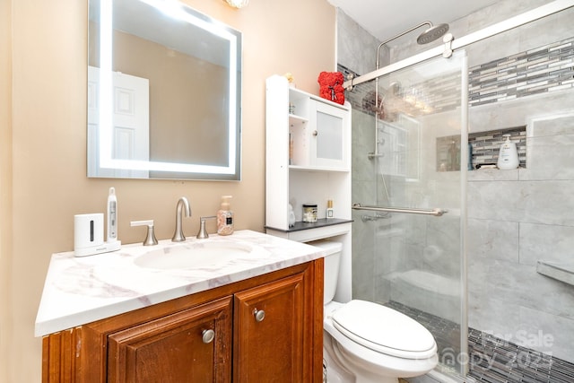
M235 294L234 382L310 381L304 287L303 274L296 274Z

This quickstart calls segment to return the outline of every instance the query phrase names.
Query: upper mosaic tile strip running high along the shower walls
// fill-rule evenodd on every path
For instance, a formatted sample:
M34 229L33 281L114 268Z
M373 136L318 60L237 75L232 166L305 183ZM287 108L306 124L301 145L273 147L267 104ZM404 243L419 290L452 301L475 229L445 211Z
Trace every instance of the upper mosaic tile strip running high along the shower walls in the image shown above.
M348 74L360 75L343 65L338 65L338 71L345 78ZM374 115L373 83L361 85L345 91L345 98L353 109ZM574 88L574 37L473 66L469 68L468 87L470 107ZM411 94L413 89L433 113L455 109L459 104L460 83L452 75L413 84L398 96Z

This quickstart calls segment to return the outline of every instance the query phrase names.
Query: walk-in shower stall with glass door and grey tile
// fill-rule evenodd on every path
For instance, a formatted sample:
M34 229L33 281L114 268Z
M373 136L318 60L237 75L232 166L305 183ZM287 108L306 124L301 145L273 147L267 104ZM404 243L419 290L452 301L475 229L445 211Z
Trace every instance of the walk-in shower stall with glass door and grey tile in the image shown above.
M359 49L345 59L365 74L340 62L355 75L353 299L427 326L436 370L459 378L574 379L572 283L540 266L571 262L574 243L574 2L540 3L373 72ZM499 145L505 129L522 132L520 169L467 171L469 138Z

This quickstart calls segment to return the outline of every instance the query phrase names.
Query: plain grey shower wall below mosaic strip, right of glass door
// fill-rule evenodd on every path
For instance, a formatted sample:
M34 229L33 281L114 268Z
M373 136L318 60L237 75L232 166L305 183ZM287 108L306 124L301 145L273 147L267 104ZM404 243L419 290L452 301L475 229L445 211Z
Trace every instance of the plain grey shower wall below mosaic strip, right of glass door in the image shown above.
M528 166L468 172L469 326L574 361L574 286L536 273L574 258L574 92L510 102ZM491 112L471 109L471 123Z

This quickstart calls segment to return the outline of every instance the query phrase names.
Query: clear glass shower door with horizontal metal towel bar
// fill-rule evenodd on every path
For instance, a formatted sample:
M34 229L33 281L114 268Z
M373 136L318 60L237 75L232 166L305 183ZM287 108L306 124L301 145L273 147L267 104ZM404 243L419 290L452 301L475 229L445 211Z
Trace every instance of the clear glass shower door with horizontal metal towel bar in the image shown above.
M353 104L353 298L431 330L465 373L465 52L361 83ZM361 99L361 100L358 100ZM374 137L374 139L373 139Z

